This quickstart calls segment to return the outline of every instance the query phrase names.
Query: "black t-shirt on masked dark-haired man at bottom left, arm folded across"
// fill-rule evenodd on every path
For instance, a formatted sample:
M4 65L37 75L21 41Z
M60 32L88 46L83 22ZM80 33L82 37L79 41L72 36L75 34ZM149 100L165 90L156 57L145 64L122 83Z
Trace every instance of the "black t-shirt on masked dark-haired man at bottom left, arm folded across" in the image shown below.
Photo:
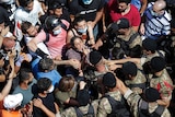
M46 97L39 97L38 95L35 95L34 98L40 98L43 104L51 110L54 114L56 114L56 108L54 104L54 95L52 93L48 93ZM48 117L40 108L33 107L33 117Z

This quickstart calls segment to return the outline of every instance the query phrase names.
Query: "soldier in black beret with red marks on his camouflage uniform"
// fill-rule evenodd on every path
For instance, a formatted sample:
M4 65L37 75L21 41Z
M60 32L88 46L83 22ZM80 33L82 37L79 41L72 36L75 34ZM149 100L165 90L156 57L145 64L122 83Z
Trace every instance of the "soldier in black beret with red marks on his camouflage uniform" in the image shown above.
M151 59L150 68L153 77L150 86L156 89L161 94L160 105L168 106L172 100L173 81L165 69L166 62L161 57Z

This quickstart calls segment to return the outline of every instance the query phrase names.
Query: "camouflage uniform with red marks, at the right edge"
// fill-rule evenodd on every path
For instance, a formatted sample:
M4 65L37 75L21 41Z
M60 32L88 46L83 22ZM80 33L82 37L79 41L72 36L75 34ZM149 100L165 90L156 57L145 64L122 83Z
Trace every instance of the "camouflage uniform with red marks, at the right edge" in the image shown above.
M171 101L173 92L173 81L170 78L166 69L163 70L161 77L151 79L150 86L156 89L161 93L162 98Z

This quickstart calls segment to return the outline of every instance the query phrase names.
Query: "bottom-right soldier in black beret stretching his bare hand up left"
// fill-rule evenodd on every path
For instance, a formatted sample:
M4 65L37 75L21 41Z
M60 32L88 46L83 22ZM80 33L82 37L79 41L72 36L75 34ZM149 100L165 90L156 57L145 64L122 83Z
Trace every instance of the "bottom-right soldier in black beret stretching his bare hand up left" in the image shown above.
M160 106L156 101L160 98L158 90L153 87L145 89L143 96L133 93L122 81L117 79L118 90L127 100L133 117L171 117L165 106ZM143 107L144 106L144 107Z

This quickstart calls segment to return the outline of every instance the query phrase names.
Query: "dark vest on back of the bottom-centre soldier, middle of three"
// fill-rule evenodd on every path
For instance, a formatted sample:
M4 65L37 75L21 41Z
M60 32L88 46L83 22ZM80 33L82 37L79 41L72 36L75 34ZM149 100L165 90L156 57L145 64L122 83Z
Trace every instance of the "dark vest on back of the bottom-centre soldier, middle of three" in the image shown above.
M108 114L107 117L130 117L130 113L127 109L124 97L121 98L121 102L114 100L109 95L105 95L105 97L107 97L112 106L112 113Z

